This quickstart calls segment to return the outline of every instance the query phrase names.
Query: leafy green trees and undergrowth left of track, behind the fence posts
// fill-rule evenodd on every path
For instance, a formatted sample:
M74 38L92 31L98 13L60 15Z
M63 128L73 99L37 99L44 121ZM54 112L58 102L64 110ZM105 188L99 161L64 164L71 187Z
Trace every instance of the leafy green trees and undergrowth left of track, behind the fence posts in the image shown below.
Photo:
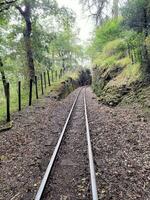
M0 2L0 119L5 110L7 82L14 111L18 81L22 82L25 105L29 80L35 83L35 75L40 77L47 70L59 74L79 66L83 51L77 42L75 19L72 10L59 7L55 0Z

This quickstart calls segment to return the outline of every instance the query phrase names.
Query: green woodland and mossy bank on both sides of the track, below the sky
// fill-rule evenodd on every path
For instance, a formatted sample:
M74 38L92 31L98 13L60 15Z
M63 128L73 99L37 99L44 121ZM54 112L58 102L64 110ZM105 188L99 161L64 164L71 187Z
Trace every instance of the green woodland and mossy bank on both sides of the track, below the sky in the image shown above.
M18 81L26 105L29 80L35 82L35 76L39 79L47 71L78 71L85 58L91 61L93 90L108 105L120 103L133 88L149 87L150 2L80 0L80 4L95 27L92 38L83 45L76 14L60 8L57 1L0 1L0 118L6 114L7 82L11 111L15 111ZM135 101L141 93L131 96Z

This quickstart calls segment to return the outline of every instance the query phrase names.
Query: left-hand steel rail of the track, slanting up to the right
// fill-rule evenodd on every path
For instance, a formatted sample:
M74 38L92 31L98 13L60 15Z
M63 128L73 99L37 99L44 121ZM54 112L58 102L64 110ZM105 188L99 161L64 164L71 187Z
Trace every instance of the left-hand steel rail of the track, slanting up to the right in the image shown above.
M82 90L82 89L81 89L81 90ZM38 192L37 192L37 194L36 194L36 196L35 196L35 200L41 200L41 198L42 198L44 189L45 189L45 187L46 187L47 180L48 180L49 175L50 175L50 173L51 173L51 171L52 171L52 167L53 167L53 165L54 165L54 163L55 163L56 156L57 156L58 151L59 151L59 148L60 148L60 146L61 146L64 133L65 133L65 131L66 131L67 125L68 125L68 123L69 123L69 120L70 120L70 118L71 118L72 112L73 112L73 110L74 110L74 107L75 107L75 105L76 105L76 102L77 102L77 100L78 100L78 97L79 97L79 95L80 95L81 90L79 91L79 93L77 94L77 96L76 96L76 98L75 98L75 100L74 100L74 102L73 102L73 105L72 105L72 107L71 107L71 110L70 110L70 112L69 112L69 115L68 115L68 117L67 117L67 120L66 120L66 122L65 122L65 125L64 125L64 127L63 127L63 130L62 130L62 132L61 132L61 134L60 134L60 137L59 137L59 140L58 140L58 142L57 142L57 145L56 145L56 147L55 147L55 149L54 149L53 155L52 155L52 157L51 157L51 159L50 159L50 162L49 162L49 164L48 164L48 167L47 167L47 169L46 169L46 172L45 172L45 174L44 174L44 177L43 177L43 179L42 179L42 181L41 181L39 190L38 190Z

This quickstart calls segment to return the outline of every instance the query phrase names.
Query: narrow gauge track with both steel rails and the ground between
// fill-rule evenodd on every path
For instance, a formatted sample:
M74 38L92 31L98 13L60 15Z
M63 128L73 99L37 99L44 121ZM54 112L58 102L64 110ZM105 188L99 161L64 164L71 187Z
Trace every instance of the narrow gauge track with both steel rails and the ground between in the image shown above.
M82 88L71 107L35 200L98 200L94 168L86 88Z

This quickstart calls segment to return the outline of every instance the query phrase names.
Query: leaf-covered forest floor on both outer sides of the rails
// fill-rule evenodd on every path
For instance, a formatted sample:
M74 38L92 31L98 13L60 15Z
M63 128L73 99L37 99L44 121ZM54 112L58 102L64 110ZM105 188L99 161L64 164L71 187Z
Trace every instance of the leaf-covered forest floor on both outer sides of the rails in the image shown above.
M13 128L0 133L0 200L34 199L78 91L61 101L53 96L38 101L14 114ZM86 95L99 198L149 200L149 118L137 104L110 108L98 104L91 88ZM82 117L79 108L77 113ZM74 120L80 118L76 115ZM63 200L62 196L59 199ZM66 194L64 199L83 198Z

